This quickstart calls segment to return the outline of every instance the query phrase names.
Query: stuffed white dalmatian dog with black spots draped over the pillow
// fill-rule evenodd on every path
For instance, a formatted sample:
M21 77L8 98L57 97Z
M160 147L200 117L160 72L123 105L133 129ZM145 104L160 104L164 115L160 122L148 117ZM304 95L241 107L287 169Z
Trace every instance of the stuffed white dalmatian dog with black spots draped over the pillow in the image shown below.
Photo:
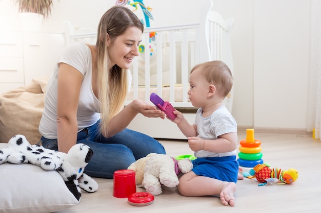
M85 144L76 144L69 152L57 152L43 146L30 145L24 135L15 135L8 147L0 150L0 164L4 162L31 163L44 170L56 170L64 179L75 198L81 198L81 190L93 193L98 190L97 182L84 173L84 168L93 155Z

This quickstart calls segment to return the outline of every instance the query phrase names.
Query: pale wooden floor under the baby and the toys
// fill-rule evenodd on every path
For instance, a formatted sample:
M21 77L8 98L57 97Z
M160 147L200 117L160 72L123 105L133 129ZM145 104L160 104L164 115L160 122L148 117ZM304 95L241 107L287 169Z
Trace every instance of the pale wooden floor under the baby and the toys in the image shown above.
M238 139L246 138L245 132ZM263 160L271 167L298 170L293 184L258 186L254 179L237 182L235 206L224 206L217 197L183 197L176 188L163 188L148 206L132 206L126 198L112 196L113 180L96 179L99 190L83 192L81 202L63 212L321 212L321 141L311 135L255 133L262 141ZM170 156L192 154L184 141L161 141ZM143 191L137 188L137 191Z

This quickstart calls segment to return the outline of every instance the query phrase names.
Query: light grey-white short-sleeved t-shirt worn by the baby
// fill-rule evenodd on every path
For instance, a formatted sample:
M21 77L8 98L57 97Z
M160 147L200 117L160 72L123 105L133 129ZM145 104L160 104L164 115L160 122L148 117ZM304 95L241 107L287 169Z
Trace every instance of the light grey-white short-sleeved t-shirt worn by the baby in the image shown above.
M234 117L225 106L216 109L210 116L203 117L203 108L196 112L194 124L197 126L198 137L214 140L220 135L237 132L237 124ZM215 143L215 141L213 141ZM194 153L195 157L223 157L236 155L236 149L231 152L216 153L200 150Z

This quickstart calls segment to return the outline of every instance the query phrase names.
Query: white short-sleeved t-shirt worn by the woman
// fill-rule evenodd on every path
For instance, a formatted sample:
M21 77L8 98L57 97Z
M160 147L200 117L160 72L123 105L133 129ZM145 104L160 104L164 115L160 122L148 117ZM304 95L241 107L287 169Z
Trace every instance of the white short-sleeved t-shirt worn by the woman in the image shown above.
M84 79L79 94L77 110L78 132L92 126L100 119L99 101L92 91L92 59L89 47L84 43L68 45L54 66L46 91L45 108L39 125L39 132L46 138L57 138L57 82L58 63L64 62L76 68Z

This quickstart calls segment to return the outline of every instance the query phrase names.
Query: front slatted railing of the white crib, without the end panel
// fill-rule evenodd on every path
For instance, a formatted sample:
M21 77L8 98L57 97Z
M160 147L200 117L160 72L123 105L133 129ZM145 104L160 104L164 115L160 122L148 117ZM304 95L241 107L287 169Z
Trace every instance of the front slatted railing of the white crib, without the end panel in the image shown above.
M149 101L150 96L150 87L157 87L157 94L162 97L164 82L162 77L164 69L164 55L169 54L169 79L166 81L167 87L169 87L169 101L174 107L178 108L190 108L193 107L190 102L188 102L187 91L189 89L188 74L192 66L198 63L198 57L196 55L198 41L195 39L198 33L198 24L191 25L179 25L179 26L166 26L166 27L157 27L157 28L147 28L143 33L142 43L145 46L151 46L153 44L156 49L156 76L157 81L155 83L150 82L150 55L151 49L145 48L144 55L139 57L144 57L144 69L145 69L145 100ZM155 33L156 42L150 40L150 33ZM147 44L147 45L146 45ZM177 49L177 46L180 46L180 49ZM153 50L155 52L155 50ZM138 58L136 57L133 61L132 66L132 89L133 89L133 98L138 98L138 90L141 88L141 85L138 84ZM180 63L177 65L177 63ZM177 70L177 66L180 67ZM180 76L180 79L177 79ZM181 102L175 101L175 89L179 84L179 87L182 87L183 96ZM126 104L130 103L131 100L127 101Z

